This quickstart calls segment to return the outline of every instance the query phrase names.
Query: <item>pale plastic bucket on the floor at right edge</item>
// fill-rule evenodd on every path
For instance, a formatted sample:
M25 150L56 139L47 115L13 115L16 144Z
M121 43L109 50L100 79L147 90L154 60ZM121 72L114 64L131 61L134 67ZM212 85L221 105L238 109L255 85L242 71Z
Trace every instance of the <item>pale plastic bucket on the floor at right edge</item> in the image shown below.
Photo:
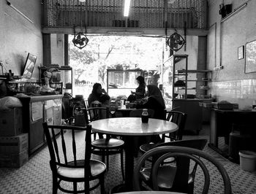
M240 155L240 167L244 171L255 171L256 169L256 153L247 150L241 150Z

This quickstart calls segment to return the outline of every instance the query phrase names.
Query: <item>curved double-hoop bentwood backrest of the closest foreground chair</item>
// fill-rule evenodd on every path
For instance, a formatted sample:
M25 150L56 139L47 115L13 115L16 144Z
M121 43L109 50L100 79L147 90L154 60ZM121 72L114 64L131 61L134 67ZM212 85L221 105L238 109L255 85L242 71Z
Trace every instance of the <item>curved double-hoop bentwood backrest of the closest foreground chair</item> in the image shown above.
M148 158L154 157L154 155L161 155L161 156L154 162L154 165L151 168L151 176L152 176L152 184L153 184L152 189L153 190L159 190L158 179L157 179L157 172L158 172L159 166L164 162L164 160L167 160L167 158L175 157L175 158L189 158L189 160L193 160L195 163L197 163L200 166L200 168L203 170L203 175L204 175L204 185L203 185L202 193L208 193L208 189L209 189L209 185L210 185L210 175L208 173L208 168L207 168L207 166L209 165L208 162L212 163L219 170L219 173L221 174L223 182L224 182L224 190L225 190L224 193L225 194L231 193L230 177L228 176L227 171L222 166L222 164L219 163L219 161L217 161L211 155L208 155L206 152L203 152L201 150L196 150L196 149L193 149L190 147L176 147L176 146L155 147L154 149L146 152L140 158L137 166L135 166L135 171L134 171L134 176L133 176L135 190L140 190L141 168L143 168L145 161ZM208 160L208 162L206 160ZM187 166L182 166L182 168L187 168ZM178 174L178 173L176 173L176 174ZM175 177L175 179L176 179L176 177ZM188 179L186 180L186 182L187 181L188 181ZM174 191L176 191L176 190L174 190ZM183 192L183 191L179 190L176 192Z

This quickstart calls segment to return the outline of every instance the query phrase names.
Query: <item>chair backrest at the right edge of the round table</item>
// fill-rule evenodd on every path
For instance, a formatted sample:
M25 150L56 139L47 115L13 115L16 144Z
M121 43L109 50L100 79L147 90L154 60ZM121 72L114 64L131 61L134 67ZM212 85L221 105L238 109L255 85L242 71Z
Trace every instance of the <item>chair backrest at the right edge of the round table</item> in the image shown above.
M173 110L166 111L166 120L176 123L178 125L178 131L175 131L174 133L170 133L168 137L171 138L171 140L181 140L185 123L187 120L187 113L173 111Z

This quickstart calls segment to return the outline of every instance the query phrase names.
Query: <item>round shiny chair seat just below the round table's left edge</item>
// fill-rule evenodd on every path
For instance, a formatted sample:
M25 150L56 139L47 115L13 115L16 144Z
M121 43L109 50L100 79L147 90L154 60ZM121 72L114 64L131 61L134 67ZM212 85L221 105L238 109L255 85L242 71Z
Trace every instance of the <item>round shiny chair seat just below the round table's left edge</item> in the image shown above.
M121 139L97 139L91 142L91 146L98 149L115 149L122 147L124 145L124 141Z

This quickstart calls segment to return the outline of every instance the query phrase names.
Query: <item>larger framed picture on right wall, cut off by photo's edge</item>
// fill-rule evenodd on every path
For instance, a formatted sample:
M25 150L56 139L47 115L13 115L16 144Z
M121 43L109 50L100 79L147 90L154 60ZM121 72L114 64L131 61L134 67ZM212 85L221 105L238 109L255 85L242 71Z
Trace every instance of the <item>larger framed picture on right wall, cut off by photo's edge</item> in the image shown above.
M256 72L256 40L246 43L244 72Z

